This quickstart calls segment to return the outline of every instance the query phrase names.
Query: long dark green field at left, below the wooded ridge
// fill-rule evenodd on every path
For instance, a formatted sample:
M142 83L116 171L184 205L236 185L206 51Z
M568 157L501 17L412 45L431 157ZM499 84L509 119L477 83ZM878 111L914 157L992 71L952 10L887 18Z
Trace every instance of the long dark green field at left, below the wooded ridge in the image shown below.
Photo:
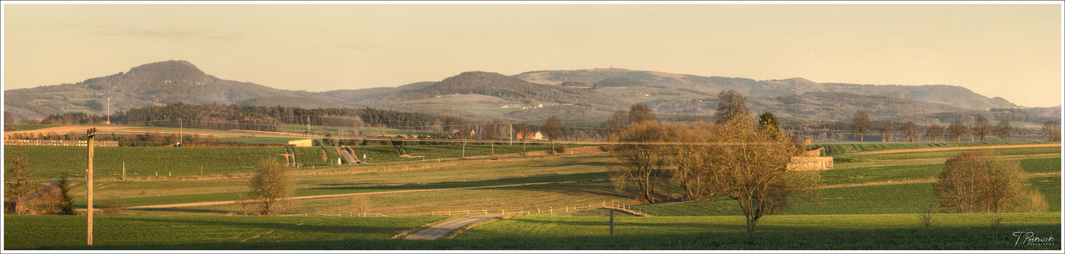
M368 153L370 163L395 163L461 156L461 146L404 146L408 154L424 157L403 157L396 147L351 147L357 153ZM530 145L528 151L550 149L551 145ZM5 146L9 153L14 147ZM85 147L22 146L30 164L36 168L34 179L59 179L61 174L85 174L88 155ZM521 152L519 145L495 146L496 153ZM335 166L340 155L332 147L218 147L218 148L166 148L166 147L97 147L93 170L96 177L119 177L122 163L129 177L216 174L255 170L260 159L275 157L285 162L286 151L294 150L296 162L306 167ZM466 156L491 154L491 147L466 146ZM361 154L360 157L361 158ZM346 160L343 160L346 163ZM11 163L4 156L4 164ZM202 168L202 171L200 170ZM78 176L73 176L78 177Z

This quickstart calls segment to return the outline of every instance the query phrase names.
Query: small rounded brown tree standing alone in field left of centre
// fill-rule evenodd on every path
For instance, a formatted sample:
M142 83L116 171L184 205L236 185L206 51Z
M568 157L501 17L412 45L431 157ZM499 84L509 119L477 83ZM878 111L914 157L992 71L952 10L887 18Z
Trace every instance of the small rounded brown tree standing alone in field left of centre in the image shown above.
M248 198L259 204L259 215L273 215L280 202L292 196L295 183L284 165L269 157L259 160L248 185Z

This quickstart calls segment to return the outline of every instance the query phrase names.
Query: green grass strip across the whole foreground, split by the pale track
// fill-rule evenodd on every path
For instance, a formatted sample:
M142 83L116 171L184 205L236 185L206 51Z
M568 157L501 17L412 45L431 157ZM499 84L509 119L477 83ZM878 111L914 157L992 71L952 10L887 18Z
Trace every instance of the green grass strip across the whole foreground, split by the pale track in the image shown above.
M1015 245L1014 232L1060 236L1061 214L773 216L757 233L740 217L521 216L474 227L456 239L387 239L433 217L96 217L94 245L84 217L6 216L6 249L102 250L1055 250ZM258 237L256 237L258 236ZM63 239L63 240L55 240Z

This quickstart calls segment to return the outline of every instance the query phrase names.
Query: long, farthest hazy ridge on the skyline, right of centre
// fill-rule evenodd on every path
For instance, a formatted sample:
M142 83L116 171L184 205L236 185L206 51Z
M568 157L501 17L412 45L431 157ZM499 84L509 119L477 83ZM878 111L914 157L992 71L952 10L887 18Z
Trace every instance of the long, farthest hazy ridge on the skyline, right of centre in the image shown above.
M620 68L529 71L513 77L532 83L551 85L567 81L594 84L607 79L627 78L642 81L652 87L667 87L707 95L716 95L721 90L736 90L742 95L753 97L802 95L809 91L834 91L905 98L973 109L1017 106L1002 98L987 98L972 92L972 90L965 87L951 85L855 85L817 83L802 78L755 81L742 78L701 77Z

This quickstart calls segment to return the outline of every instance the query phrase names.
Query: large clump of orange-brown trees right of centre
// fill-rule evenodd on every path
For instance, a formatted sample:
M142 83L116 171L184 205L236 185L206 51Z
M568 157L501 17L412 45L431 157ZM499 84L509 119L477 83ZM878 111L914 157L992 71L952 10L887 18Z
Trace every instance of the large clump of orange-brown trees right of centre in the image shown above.
M719 94L714 122L660 121L645 104L619 111L603 125L619 189L632 189L638 202L672 198L660 193L673 186L690 200L736 201L754 232L759 219L787 205L791 198L812 198L806 190L820 184L814 171L790 170L792 156L805 149L771 114L757 117L747 99L733 90ZM689 142L662 145L660 142Z

